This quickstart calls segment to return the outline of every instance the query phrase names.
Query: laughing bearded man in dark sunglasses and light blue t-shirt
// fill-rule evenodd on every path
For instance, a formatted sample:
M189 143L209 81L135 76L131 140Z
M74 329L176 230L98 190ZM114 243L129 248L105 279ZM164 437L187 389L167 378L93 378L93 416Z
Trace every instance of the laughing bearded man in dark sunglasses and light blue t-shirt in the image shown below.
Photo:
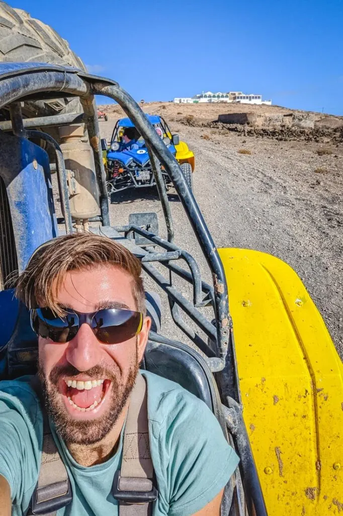
M202 401L139 373L151 324L139 260L106 237L58 237L33 254L16 296L31 309L43 403L73 495L58 515L148 514L149 505L153 516L219 516L238 459ZM138 378L158 495L130 512L112 483ZM44 409L30 382L0 382L1 516L27 513L40 475Z

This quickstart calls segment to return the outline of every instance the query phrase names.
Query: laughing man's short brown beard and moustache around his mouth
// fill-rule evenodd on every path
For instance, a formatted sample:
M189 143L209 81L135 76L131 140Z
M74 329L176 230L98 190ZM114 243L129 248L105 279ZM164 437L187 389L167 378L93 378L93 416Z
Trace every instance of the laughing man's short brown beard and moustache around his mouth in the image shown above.
M65 409L61 394L58 391L58 381L61 376L70 379L79 375L80 371L71 364L56 365L49 377L46 378L41 364L38 366L38 375L41 381L45 407L52 418L56 431L65 443L90 445L104 439L118 420L126 402L132 392L139 371L137 353L135 361L128 370L127 377L123 381L123 375L118 367L96 365L88 371L83 371L90 378L107 378L111 380L111 397L107 411L90 421L75 420Z

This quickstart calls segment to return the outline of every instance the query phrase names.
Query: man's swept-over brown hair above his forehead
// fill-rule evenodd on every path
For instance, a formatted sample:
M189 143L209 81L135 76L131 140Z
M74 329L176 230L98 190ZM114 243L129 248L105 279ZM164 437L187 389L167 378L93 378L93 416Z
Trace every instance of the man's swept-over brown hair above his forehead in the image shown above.
M20 275L15 295L27 308L48 307L62 316L56 298L66 272L88 269L95 264L114 265L132 276L137 310L145 315L141 262L121 244L93 233L60 236L39 247Z

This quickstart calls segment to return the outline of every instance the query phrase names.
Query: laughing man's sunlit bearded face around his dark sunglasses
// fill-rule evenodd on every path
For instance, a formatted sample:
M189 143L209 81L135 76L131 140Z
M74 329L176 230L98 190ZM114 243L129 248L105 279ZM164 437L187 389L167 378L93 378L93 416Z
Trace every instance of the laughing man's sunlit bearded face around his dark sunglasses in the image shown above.
M122 269L99 265L68 272L57 299L76 312L136 311L132 284ZM133 388L149 328L145 318L139 335L120 344L102 344L87 324L64 344L39 337L39 374L49 413L65 442L93 444L111 430ZM92 388L82 382L92 382Z

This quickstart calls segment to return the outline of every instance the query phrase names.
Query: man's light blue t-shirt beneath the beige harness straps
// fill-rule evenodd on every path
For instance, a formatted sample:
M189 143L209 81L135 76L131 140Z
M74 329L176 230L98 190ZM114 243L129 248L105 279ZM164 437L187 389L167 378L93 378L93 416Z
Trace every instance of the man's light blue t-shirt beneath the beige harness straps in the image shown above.
M174 382L142 374L147 380L150 449L159 491L153 516L192 515L226 485L238 458L202 401ZM11 488L13 516L26 513L41 462L42 412L29 380L0 382L0 475ZM118 514L111 488L122 461L123 433L109 460L84 467L53 431L73 491L72 504L58 516Z

